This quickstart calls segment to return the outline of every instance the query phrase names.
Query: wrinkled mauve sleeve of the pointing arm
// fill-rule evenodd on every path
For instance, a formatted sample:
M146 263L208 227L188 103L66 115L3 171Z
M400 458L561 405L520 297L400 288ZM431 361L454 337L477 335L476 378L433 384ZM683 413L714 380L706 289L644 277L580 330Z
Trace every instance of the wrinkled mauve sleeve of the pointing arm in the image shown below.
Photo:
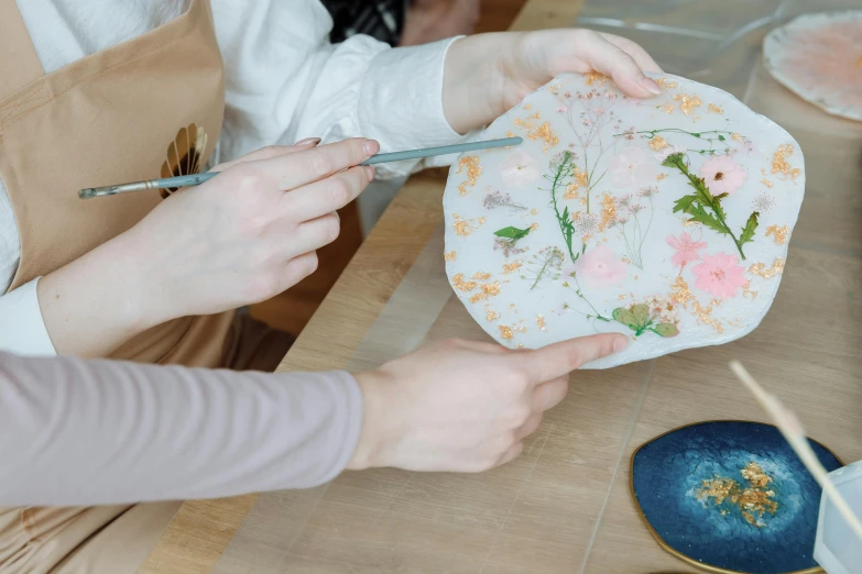
M356 450L348 373L236 373L0 353L0 505L307 488Z

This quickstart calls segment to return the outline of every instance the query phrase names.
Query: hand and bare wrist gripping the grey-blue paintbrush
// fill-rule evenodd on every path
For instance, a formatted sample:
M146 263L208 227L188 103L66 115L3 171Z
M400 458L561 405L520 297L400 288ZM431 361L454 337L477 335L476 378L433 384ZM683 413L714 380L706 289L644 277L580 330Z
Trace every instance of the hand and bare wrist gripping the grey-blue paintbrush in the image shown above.
M371 140L269 147L181 190L128 232L43 277L39 298L61 354L105 356L167 320L273 297L317 267L336 210L373 179ZM111 198L106 199L110 201Z

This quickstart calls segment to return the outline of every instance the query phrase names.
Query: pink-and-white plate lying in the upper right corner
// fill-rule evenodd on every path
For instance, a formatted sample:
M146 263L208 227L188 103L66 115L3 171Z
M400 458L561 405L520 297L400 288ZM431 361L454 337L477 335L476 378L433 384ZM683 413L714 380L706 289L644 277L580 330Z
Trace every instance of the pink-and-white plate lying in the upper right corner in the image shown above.
M763 41L763 62L797 96L862 120L862 10L803 14Z

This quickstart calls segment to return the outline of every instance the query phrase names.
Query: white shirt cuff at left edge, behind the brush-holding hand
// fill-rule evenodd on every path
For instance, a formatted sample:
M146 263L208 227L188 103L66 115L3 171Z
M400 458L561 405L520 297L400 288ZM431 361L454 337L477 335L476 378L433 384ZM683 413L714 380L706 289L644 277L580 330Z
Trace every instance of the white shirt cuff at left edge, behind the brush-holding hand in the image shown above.
M0 296L0 351L24 356L54 356L57 351L42 319L39 277Z

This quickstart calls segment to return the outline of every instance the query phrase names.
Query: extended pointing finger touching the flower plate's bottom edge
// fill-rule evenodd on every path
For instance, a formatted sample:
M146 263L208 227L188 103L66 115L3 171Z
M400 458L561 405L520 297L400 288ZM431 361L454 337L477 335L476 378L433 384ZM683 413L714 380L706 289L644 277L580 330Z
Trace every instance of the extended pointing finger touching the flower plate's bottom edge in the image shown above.
M628 345L629 338L623 334L597 334L563 341L535 351L513 353L511 357L527 372L531 383L537 385L568 375L611 353L619 353Z

